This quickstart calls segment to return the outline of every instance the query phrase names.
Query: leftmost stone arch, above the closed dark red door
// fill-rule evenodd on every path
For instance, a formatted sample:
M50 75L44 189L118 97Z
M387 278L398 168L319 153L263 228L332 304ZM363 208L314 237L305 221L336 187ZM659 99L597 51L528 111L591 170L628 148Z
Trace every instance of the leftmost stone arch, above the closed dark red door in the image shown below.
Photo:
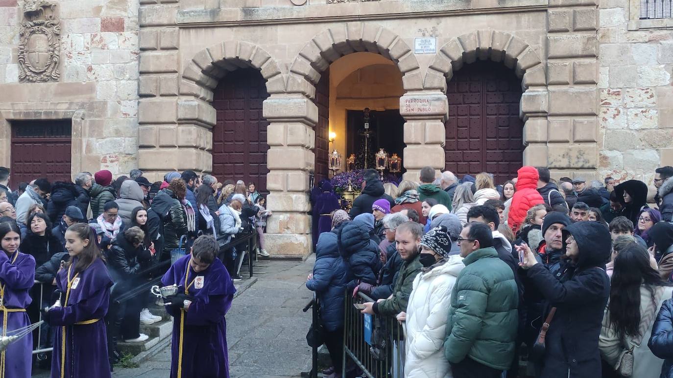
M264 49L249 42L229 40L197 52L182 71L180 95L213 100L213 89L229 72L239 68L258 69L267 81L267 91L285 92L285 79L278 62Z

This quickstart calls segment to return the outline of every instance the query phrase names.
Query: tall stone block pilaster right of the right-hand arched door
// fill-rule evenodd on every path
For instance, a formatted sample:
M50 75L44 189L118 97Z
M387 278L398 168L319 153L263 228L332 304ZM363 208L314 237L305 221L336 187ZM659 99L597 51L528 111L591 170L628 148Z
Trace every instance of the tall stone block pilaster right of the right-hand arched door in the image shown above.
M547 14L547 165L553 176L592 177L598 165L596 0L550 0ZM537 155L528 154L535 157L528 162Z

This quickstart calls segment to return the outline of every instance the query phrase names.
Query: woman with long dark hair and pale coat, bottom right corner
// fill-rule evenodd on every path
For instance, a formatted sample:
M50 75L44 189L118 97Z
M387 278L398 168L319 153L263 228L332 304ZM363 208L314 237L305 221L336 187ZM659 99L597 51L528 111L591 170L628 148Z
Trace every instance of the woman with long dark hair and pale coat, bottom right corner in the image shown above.
M633 350L630 376L658 377L664 361L652 354L647 340L659 308L672 293L673 287L651 267L649 253L641 245L630 243L614 258L610 301L598 339L608 365L618 367L623 353Z

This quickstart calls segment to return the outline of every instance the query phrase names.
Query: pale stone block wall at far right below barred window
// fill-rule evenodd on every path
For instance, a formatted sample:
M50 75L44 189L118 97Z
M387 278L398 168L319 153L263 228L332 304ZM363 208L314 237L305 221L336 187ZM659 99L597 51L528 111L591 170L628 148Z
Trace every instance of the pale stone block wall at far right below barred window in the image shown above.
M653 194L654 169L673 165L673 30L638 20L635 0L600 0L598 11L598 176L644 180Z

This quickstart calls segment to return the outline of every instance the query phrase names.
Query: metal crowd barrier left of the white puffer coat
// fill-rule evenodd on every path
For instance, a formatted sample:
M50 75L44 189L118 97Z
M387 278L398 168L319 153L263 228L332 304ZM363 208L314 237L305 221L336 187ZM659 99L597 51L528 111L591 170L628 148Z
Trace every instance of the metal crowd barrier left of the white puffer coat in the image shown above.
M350 358L369 378L402 378L404 326L394 317L361 314L355 303L376 302L363 293L353 298L346 292L345 298L343 372L352 368Z

